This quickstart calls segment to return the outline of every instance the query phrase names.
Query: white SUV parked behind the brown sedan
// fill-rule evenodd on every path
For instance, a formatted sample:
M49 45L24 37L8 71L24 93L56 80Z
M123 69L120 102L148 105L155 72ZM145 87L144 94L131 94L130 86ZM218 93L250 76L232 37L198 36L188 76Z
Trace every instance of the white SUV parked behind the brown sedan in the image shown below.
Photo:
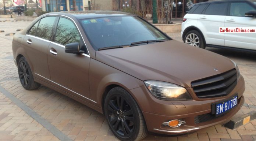
M219 33L219 27L256 27L256 0L197 3L184 16L181 36L186 44L205 48L256 50L254 33Z

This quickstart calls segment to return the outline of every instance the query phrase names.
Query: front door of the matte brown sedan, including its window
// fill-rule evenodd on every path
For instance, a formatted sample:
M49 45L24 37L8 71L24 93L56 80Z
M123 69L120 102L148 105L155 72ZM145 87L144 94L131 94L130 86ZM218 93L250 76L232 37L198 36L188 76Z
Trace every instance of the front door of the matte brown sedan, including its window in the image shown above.
M48 48L48 64L51 85L89 102L89 55L65 53L65 45L79 42L82 50L86 47L75 24L60 17L55 40Z

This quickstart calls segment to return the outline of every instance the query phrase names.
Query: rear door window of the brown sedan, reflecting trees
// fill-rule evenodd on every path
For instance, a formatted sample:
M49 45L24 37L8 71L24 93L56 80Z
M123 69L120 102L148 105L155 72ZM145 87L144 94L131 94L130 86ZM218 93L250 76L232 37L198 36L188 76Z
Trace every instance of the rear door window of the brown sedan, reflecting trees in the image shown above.
M38 25L36 36L45 40L50 40L55 19L55 16L47 16L45 18L42 18Z

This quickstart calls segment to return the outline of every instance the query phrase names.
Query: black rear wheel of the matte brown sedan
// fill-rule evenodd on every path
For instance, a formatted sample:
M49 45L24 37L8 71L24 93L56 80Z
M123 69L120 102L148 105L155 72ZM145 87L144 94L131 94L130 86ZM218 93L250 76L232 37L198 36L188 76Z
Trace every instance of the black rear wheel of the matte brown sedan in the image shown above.
M40 84L34 81L32 71L25 57L21 57L18 62L19 81L26 90L39 88Z

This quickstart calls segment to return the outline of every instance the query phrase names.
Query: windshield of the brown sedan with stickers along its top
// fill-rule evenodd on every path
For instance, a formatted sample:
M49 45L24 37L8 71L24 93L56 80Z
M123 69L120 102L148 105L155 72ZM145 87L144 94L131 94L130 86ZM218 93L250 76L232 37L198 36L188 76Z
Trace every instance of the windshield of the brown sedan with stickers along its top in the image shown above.
M96 50L140 41L169 40L159 30L136 16L83 19L81 24Z

